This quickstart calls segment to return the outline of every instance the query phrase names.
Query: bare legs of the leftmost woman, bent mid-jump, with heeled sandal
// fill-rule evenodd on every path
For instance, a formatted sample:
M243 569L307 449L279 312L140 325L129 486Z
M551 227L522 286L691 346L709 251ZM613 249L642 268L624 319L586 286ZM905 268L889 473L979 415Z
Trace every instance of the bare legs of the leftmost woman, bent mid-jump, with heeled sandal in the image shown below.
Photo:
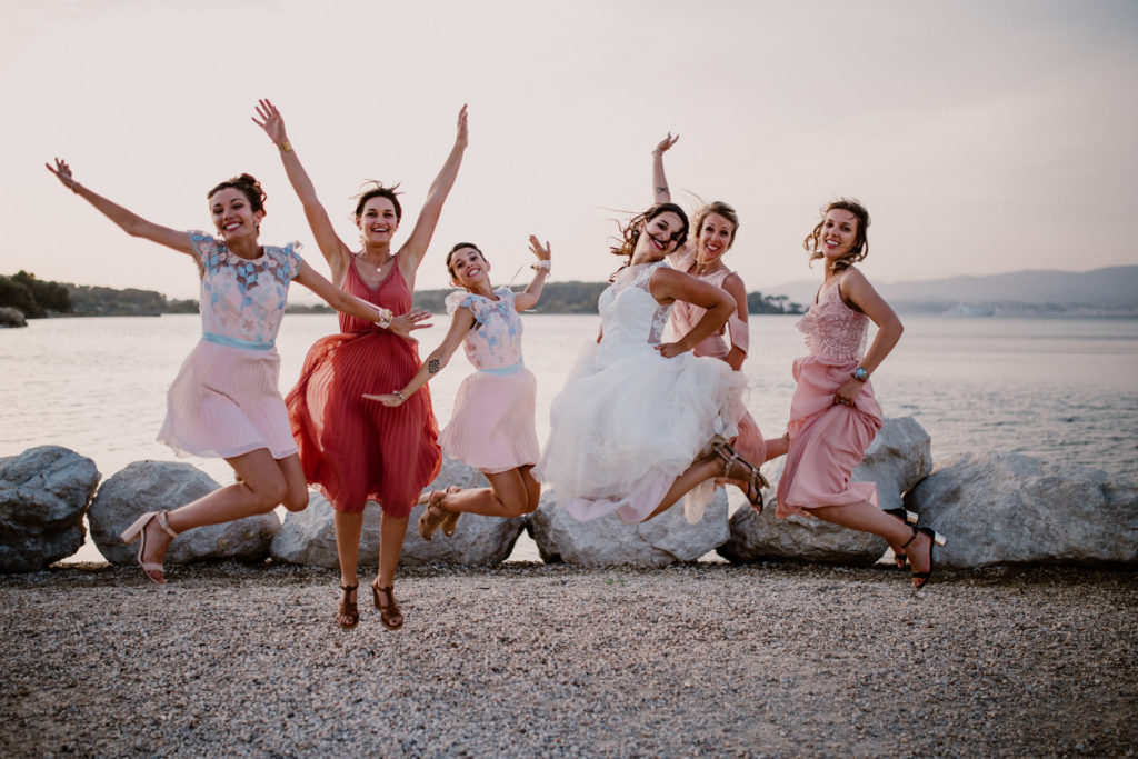
M300 511L308 505L308 486L296 455L277 460L267 448L257 448L225 461L237 473L237 484L171 511L166 517L175 533L269 513L280 504L289 511ZM157 520L151 520L146 530L147 555L143 560L160 564L173 538L158 526Z

